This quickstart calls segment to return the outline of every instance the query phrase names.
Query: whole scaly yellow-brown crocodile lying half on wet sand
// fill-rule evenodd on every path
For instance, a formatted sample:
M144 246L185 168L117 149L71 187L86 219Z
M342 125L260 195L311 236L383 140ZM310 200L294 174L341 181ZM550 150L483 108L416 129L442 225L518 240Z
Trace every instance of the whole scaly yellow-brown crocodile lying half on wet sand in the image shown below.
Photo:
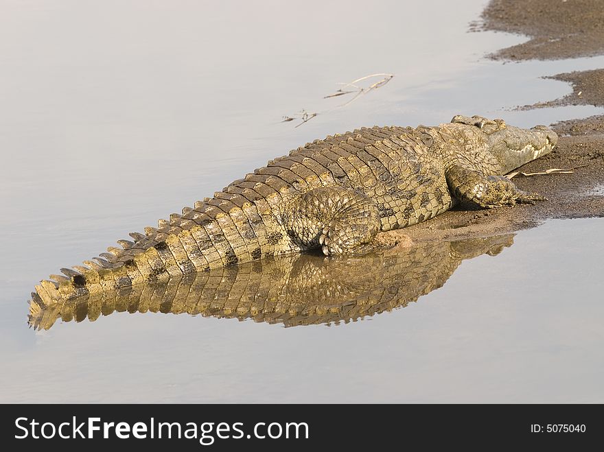
M280 254L370 252L378 232L424 222L459 202L487 209L544 200L503 175L556 143L546 126L462 115L433 127L327 136L160 219L157 228L130 233L132 240L117 241L120 248L62 268L32 297L52 305Z

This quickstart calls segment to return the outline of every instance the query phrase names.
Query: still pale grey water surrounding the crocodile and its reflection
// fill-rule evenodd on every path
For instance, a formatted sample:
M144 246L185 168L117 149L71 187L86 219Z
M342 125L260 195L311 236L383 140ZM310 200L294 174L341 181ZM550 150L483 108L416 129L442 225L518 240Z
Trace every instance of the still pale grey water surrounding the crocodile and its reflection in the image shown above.
M467 33L485 1L0 1L0 401L603 401L603 220L548 222L417 305L337 327L115 314L27 329L40 278L306 141L456 113L600 112ZM345 108L322 99L377 72ZM299 128L279 123L305 108ZM331 111L327 111L331 110Z

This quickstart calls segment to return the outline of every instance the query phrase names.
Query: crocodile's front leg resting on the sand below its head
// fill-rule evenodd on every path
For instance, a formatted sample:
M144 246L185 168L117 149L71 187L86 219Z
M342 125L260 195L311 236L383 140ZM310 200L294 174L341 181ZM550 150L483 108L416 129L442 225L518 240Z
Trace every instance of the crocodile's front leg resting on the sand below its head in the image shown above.
M452 165L446 171L447 184L459 201L470 201L489 209L514 204L535 204L546 198L537 193L527 193L503 176L487 176L464 165Z

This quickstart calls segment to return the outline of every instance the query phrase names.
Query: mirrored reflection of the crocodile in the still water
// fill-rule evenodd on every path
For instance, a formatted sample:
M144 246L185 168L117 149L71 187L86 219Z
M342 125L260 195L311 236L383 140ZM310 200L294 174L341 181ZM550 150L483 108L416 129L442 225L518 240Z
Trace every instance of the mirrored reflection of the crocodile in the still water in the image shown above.
M34 296L29 321L35 329L49 329L58 318L93 322L115 311L151 311L285 326L338 324L405 307L441 287L463 259L495 255L512 243L513 235L500 235L418 243L362 257L263 259L51 306Z

